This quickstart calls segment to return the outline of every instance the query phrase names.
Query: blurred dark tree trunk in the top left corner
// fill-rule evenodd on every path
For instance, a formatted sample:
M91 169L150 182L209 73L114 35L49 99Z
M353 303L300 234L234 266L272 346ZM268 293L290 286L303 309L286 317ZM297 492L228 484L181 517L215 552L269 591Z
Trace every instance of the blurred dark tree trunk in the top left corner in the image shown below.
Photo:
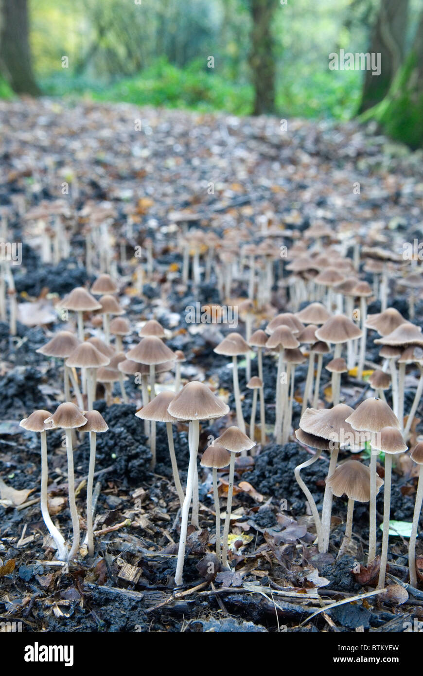
M27 0L1 0L0 68L17 94L40 93L32 73Z

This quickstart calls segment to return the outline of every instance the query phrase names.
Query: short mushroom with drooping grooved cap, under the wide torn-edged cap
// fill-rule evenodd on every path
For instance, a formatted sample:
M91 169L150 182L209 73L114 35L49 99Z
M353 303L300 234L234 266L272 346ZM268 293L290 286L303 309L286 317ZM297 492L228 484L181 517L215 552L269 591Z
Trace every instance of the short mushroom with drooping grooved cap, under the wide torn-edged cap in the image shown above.
M345 535L337 557L341 558L353 534L354 502L355 500L357 502L369 502L370 500L370 469L358 460L347 460L334 470L332 476L326 479L326 483L330 486L334 496L341 498L345 493L348 498ZM382 485L383 480L376 477L376 495Z

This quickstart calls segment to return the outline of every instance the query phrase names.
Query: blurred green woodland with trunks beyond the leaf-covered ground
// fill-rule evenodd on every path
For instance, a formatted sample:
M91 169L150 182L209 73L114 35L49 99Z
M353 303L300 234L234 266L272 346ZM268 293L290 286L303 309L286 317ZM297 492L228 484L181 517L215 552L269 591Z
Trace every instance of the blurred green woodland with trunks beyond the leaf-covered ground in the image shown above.
M40 89L240 115L362 114L409 145L423 141L423 0L0 3L0 96ZM329 70L340 49L380 52L380 75Z

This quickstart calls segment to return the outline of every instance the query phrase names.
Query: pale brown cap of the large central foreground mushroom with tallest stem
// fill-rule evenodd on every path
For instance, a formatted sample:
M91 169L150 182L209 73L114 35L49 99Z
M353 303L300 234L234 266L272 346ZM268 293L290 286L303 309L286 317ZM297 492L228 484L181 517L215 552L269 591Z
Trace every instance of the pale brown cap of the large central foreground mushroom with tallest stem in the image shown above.
M170 402L168 412L179 420L208 420L225 416L229 406L215 397L207 385L193 381L182 387Z

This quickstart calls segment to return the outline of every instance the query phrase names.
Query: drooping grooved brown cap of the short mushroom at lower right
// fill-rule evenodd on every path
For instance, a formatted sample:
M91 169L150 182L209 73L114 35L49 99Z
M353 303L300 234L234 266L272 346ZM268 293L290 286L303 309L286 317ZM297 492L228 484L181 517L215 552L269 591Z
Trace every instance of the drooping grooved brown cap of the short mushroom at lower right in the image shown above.
M332 489L334 496L341 498L344 494L349 500L369 502L370 469L358 460L347 460L334 470L326 484ZM383 481L376 476L376 495Z

